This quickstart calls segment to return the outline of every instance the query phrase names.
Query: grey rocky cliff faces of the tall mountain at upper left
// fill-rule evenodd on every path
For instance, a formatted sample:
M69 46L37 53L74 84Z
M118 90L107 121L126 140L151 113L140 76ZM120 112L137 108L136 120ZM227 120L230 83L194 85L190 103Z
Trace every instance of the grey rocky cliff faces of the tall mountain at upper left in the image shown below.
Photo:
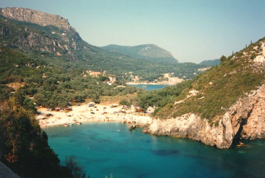
M26 8L3 8L0 9L0 15L8 18L5 20L0 35L3 42L5 38L9 38L11 44L9 47L19 48L20 50L39 50L47 51L61 56L64 54L70 58L75 59L72 50L88 49L89 47L83 45L83 40L74 28L70 26L68 20L60 15L52 15L32 9ZM54 26L60 29L58 32L38 32L30 27L24 26L17 29L16 26L9 22L9 19L38 24L40 26ZM52 36L57 35L56 38ZM1 37L0 36L0 37ZM3 44L5 45L5 44Z

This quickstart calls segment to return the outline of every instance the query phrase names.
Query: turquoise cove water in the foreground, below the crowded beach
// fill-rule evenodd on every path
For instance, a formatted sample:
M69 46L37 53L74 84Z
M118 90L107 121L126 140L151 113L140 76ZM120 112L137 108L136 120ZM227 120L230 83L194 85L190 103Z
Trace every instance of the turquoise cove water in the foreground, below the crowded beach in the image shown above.
M143 134L120 122L44 130L61 164L74 154L91 178L111 173L114 178L265 176L265 140L220 150L194 140Z

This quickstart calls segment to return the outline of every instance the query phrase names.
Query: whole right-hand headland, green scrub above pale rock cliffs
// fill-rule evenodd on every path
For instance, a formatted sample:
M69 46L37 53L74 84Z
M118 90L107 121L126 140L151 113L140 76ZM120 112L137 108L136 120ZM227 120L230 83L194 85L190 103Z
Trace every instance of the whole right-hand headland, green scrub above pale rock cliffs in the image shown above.
M265 138L265 39L203 73L144 133L179 136L230 148Z

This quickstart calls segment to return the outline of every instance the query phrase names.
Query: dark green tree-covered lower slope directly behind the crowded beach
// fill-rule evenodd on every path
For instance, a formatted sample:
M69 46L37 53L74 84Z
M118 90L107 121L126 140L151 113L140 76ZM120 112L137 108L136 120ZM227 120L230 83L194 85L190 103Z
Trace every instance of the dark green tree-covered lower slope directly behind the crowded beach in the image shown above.
M136 87L117 88L118 84L108 85L103 82L107 77L82 75L79 69L64 73L60 69L40 65L7 47L2 46L0 50L1 99L12 95L12 84L21 85L20 93L34 96L36 105L45 107L64 107L73 100L83 102L86 98L99 103L102 95L126 95L144 91Z

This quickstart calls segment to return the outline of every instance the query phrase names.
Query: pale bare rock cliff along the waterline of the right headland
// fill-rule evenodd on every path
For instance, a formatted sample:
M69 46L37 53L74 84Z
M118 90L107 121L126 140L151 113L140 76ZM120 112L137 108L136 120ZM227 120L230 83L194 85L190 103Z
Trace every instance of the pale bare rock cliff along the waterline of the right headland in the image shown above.
M265 138L265 84L232 105L218 126L210 126L195 114L186 114L153 120L143 132L190 138L218 148L229 148L240 138Z

